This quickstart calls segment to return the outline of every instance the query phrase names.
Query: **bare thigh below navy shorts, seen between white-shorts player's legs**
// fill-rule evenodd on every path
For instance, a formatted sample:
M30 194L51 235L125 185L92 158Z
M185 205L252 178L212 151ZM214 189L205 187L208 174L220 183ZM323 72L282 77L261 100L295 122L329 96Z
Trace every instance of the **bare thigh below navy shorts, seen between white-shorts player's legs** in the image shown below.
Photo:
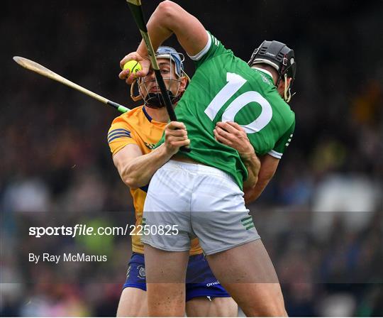
M196 297L186 303L188 317L237 317L238 305L231 297Z

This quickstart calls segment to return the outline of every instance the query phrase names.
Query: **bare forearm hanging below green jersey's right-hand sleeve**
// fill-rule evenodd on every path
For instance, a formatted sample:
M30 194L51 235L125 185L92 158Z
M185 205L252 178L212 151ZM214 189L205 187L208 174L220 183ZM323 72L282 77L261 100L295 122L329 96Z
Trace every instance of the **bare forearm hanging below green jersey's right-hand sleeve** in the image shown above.
M255 201L260 197L260 194L265 190L270 180L272 180L275 171L277 171L278 164L279 158L272 157L268 154L260 157L260 172L258 174L257 184L252 189L246 189L244 196L246 203Z

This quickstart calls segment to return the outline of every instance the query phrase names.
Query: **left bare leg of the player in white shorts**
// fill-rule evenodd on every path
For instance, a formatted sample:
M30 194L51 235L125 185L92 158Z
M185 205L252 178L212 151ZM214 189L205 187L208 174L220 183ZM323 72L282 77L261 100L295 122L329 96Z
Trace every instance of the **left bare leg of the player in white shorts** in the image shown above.
M145 244L148 315L183 317L189 251L161 251Z

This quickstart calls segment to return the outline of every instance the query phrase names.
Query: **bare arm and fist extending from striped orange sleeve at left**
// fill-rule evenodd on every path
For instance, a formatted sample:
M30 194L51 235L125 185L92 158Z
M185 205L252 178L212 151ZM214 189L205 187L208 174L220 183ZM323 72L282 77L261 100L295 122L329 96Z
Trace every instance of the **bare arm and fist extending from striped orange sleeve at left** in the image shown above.
M148 185L155 172L182 146L189 146L184 124L171 121L165 128L165 143L143 155L140 147L129 144L113 155L113 163L123 182L131 188Z

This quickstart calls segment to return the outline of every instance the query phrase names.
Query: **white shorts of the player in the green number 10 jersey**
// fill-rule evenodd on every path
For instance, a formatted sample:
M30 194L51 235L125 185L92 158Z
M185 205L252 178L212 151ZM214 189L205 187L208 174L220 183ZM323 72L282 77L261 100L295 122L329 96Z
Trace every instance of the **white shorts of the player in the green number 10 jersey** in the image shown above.
M143 221L148 228L173 226L178 233L150 231L141 241L165 251L189 251L191 238L198 237L206 255L226 251L260 238L248 212L231 175L170 160L150 181Z

